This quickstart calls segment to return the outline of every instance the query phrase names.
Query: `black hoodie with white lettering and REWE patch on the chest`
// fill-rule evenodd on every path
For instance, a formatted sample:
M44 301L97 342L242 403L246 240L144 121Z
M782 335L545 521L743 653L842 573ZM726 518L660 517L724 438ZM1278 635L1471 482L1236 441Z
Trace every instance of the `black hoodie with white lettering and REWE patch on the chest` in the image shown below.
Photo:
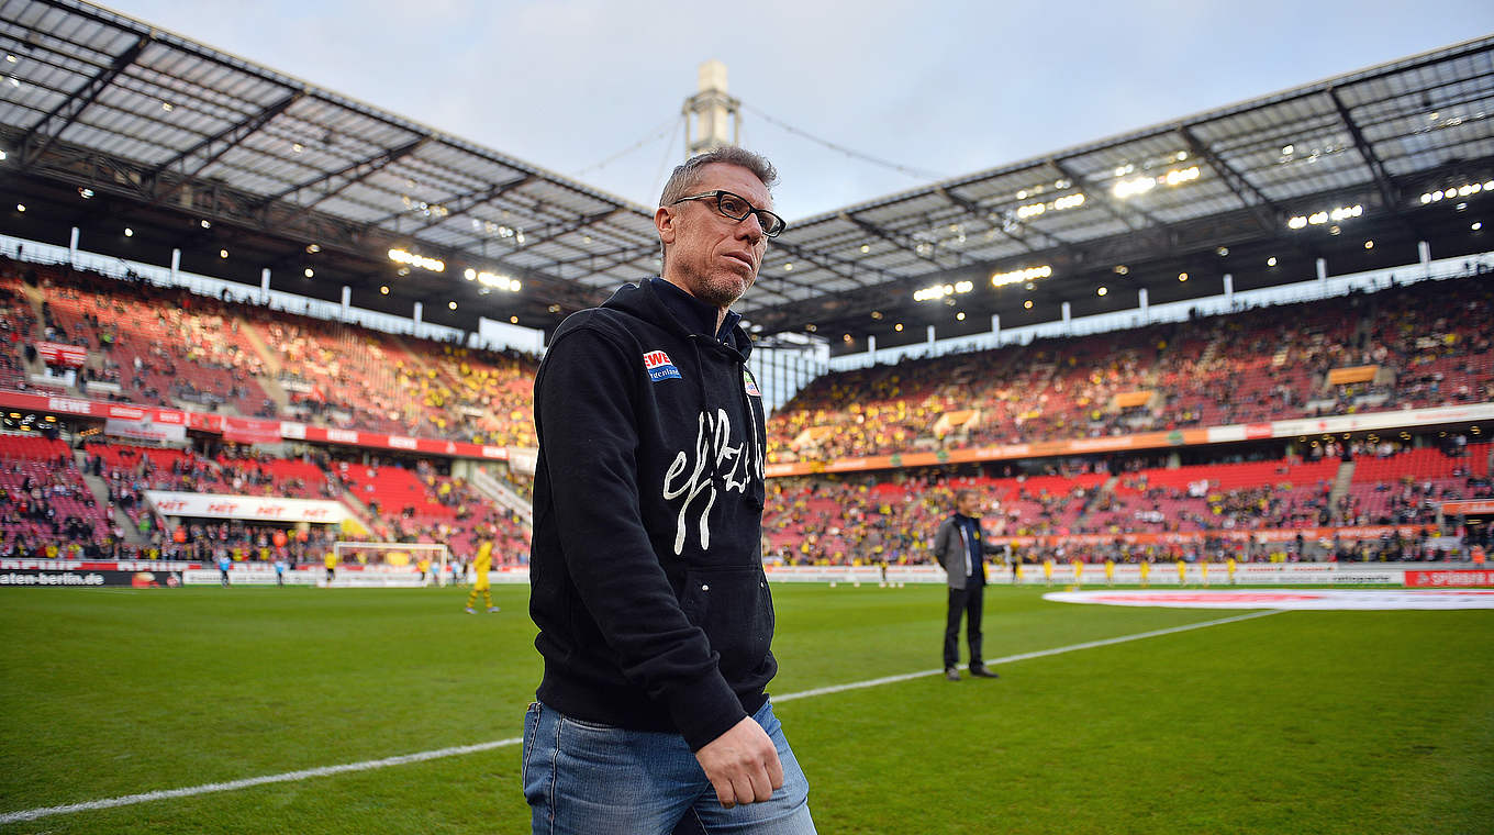
M701 333L624 285L569 317L535 378L529 612L538 698L699 750L766 699L762 396L741 327Z

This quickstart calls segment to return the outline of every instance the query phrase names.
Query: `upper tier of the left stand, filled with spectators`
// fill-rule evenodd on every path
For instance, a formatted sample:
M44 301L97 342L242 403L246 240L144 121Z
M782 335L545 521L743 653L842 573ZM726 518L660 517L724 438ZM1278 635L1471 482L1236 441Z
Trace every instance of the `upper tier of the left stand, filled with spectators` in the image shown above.
M15 275L21 269L16 263L0 269L16 287L15 305L0 315L27 333L27 300ZM36 273L46 333L93 351L78 394L533 445L529 414L538 363L517 351L402 338L49 264L24 269ZM0 353L0 375L6 370L19 382L21 358L6 361Z

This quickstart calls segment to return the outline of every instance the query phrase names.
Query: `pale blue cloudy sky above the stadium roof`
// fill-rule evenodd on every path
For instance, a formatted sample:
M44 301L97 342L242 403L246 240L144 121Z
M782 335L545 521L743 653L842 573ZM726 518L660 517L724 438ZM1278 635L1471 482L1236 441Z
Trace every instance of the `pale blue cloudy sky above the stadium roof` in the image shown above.
M720 60L790 223L1494 31L1488 0L105 4L647 206Z

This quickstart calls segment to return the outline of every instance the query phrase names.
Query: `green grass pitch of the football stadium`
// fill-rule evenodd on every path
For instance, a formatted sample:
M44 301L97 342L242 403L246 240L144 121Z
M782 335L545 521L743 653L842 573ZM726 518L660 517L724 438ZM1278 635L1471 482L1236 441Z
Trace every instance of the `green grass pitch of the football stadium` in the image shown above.
M515 738L524 587L0 590L0 814ZM778 586L778 695L931 671L941 587ZM991 589L986 656L1227 618ZM1494 831L1494 612L1282 612L783 702L825 834ZM16 832L527 832L518 745Z

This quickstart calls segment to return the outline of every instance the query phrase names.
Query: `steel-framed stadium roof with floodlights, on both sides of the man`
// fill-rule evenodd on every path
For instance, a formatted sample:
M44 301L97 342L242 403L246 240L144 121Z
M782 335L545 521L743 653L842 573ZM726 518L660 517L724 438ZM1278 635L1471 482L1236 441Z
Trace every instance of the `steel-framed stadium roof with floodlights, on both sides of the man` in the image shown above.
M412 299L460 297L474 303L454 324L475 327L475 309L550 327L657 270L647 206L106 9L0 3L0 49L3 166L21 188L93 188L118 202L115 212L163 224L224 221L276 267L315 246L318 273L353 285L356 305L378 308L374 288L391 285L399 312ZM1337 218L1303 229L1291 218L1361 206L1342 224L1355 248L1360 232L1410 246L1446 239L1451 202L1418 197L1490 179L1490 117L1494 37L1484 37L790 221L738 309L768 333L813 326L844 332L847 344L889 344L922 339L922 324L983 330L994 312L1004 323L1052 318L1058 302L1079 306L1074 315L1135 305L1134 291L1097 300L1106 279L1146 287L1153 303L1218 293L1224 272L1237 288L1301 279L1300 264L1328 252L1354 260L1334 249L1349 236L1328 235ZM217 251L214 235L203 246ZM391 264L390 248L448 270ZM1298 273L1240 261L1267 251ZM1382 252L1415 260L1404 246ZM992 287L995 272L1043 266L1052 276L1032 278L1031 290L1025 278ZM523 288L480 297L462 281L466 267ZM1179 270L1200 281L1183 287ZM962 281L968 294L913 300ZM1028 299L1037 312L1023 312ZM950 308L970 321L956 326ZM892 320L904 318L914 327L895 336Z

